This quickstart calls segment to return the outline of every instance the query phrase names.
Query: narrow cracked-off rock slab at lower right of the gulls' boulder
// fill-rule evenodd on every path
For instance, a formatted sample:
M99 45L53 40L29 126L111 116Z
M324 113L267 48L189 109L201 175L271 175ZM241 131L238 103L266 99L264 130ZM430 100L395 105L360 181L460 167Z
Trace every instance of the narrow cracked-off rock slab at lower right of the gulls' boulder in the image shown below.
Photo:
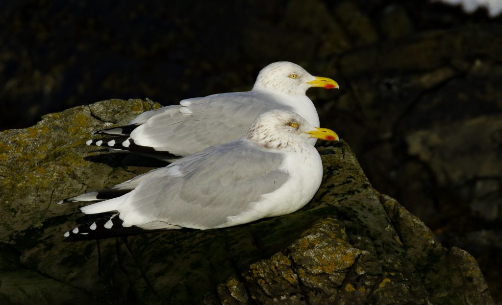
M488 285L479 281L482 273L478 267L473 268L476 261L469 253L457 247L443 248L432 231L396 200L385 195L381 200L422 281L426 285L434 283L435 289L429 290L433 304L488 301L485 295Z

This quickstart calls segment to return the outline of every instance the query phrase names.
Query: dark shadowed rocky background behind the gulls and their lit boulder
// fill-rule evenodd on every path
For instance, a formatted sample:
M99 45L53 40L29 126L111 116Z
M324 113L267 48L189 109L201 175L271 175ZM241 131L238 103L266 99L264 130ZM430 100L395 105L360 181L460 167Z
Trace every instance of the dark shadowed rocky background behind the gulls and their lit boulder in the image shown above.
M502 301L502 21L426 1L0 4L0 129L109 98L247 90L289 60L375 189L473 254Z

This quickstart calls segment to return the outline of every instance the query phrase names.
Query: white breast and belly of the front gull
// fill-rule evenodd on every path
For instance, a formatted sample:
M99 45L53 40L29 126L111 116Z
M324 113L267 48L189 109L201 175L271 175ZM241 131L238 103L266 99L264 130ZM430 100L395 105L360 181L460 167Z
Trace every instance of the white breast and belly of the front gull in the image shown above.
M278 190L262 195L260 201L237 216L227 217L227 227L252 222L265 217L293 213L304 207L314 197L322 180L322 162L314 146L305 145L302 153L288 153L281 170L290 178Z

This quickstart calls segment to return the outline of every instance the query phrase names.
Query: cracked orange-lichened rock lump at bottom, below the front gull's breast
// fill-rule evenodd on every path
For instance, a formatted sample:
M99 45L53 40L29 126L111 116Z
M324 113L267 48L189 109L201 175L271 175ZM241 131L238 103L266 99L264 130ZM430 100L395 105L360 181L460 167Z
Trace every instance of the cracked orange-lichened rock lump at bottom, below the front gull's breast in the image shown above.
M278 252L254 263L245 272L249 291L260 303L331 304L361 254L332 218L314 223L286 252L287 256Z

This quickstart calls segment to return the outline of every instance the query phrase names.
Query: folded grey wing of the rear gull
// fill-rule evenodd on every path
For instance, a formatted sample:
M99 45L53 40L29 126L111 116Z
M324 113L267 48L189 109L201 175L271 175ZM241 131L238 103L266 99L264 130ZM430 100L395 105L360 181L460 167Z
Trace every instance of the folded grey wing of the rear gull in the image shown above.
M135 144L177 156L189 156L209 146L242 137L264 112L292 110L272 96L253 91L192 98L180 104L150 115L134 129L131 137Z

